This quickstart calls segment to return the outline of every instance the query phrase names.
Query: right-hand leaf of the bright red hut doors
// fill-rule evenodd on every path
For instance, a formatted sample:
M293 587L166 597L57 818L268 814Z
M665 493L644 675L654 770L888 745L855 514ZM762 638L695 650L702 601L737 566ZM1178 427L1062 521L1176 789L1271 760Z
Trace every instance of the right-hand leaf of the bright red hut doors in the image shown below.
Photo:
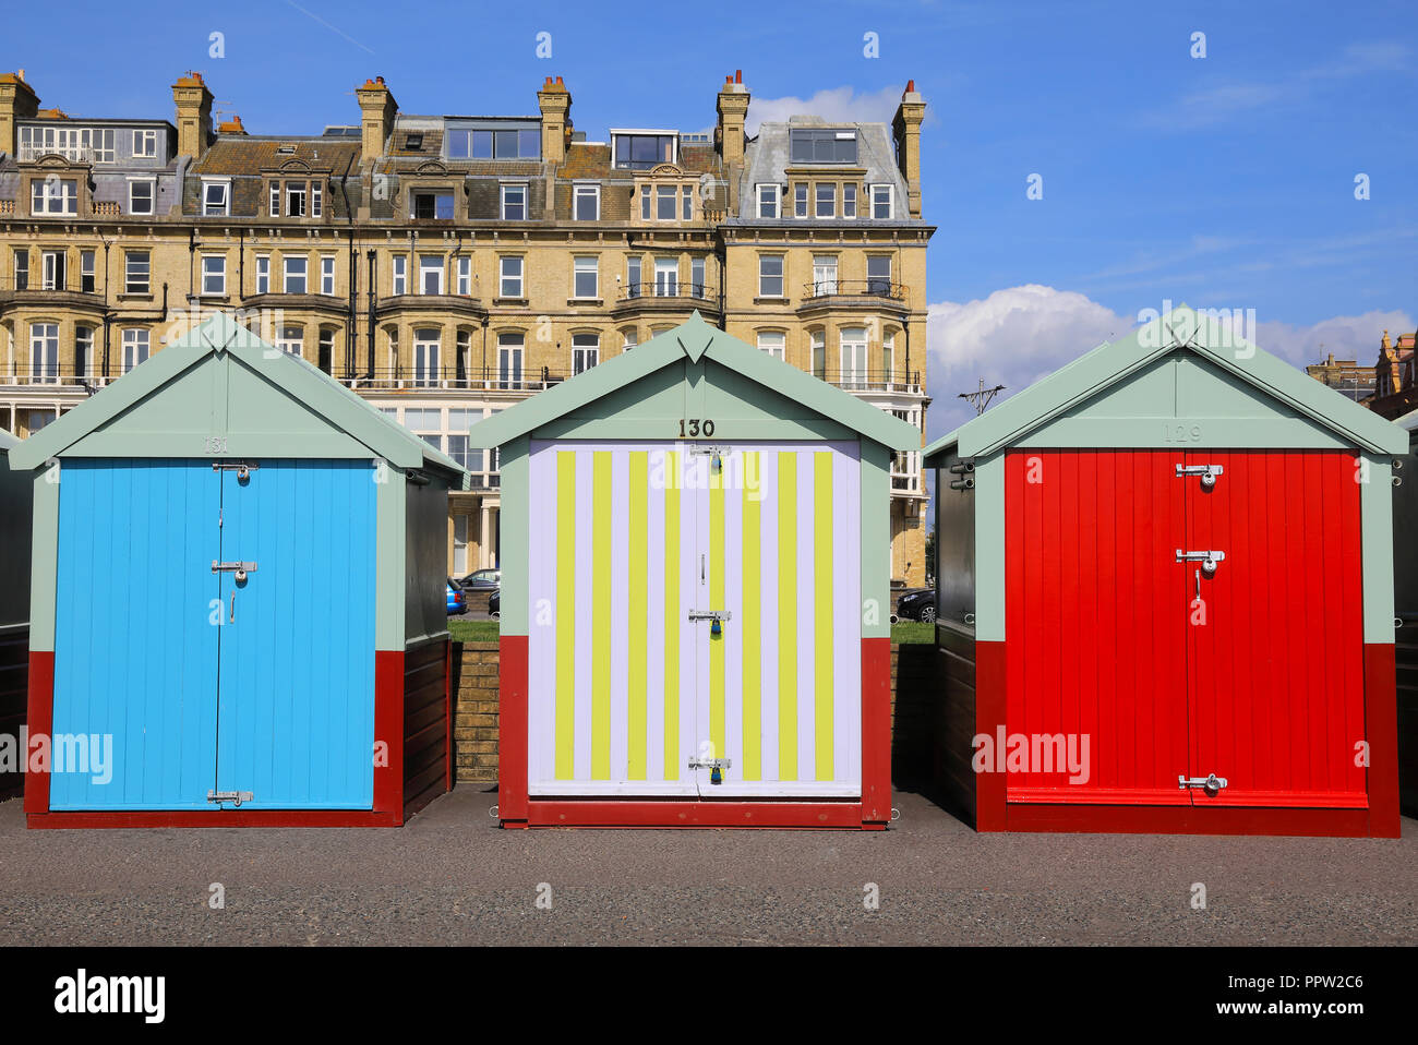
M1193 452L1185 466L1185 550L1225 556L1211 573L1174 567L1191 588L1193 803L1366 807L1356 457ZM1212 774L1225 787L1205 787Z

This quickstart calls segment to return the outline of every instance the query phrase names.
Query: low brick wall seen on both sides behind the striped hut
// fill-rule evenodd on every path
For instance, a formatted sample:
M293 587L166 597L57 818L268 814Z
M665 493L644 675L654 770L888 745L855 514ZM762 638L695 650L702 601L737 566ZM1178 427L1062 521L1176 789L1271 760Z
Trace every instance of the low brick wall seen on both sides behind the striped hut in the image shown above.
M891 647L892 778L929 780L932 767L932 688L936 648L930 642ZM498 644L454 644L452 739L458 780L498 778Z

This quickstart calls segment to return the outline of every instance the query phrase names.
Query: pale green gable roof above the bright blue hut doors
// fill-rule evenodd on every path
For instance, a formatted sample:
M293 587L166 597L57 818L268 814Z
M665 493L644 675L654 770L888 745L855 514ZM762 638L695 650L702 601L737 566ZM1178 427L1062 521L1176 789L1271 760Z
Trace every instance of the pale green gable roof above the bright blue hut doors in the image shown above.
M452 459L430 447L417 435L380 413L329 374L322 373L299 356L289 354L261 340L237 323L225 312L218 312L200 326L189 330L162 352L155 353L132 371L104 390L79 403L52 424L24 440L11 454L11 468L37 468L65 452L81 454L77 448L89 435L101 440L105 428L133 418L143 410L166 411L183 406L193 390L206 390L200 371L214 360L230 357L240 366L240 389L223 383L224 398L238 398L227 404L244 410L247 424L262 427L271 423L272 434L286 435L291 449L301 449L302 435L340 432L366 447L398 468L434 466L451 472L455 482L465 476ZM176 398L162 403L163 393ZM210 424L211 404L191 404L191 418ZM191 420L189 418L189 420ZM140 425L149 432L163 432L180 424L173 417L155 417ZM289 428L288 425L292 425ZM214 434L220 434L214 432ZM172 455L172 451L167 451ZM267 454L279 457L279 454ZM319 454L315 454L316 457Z

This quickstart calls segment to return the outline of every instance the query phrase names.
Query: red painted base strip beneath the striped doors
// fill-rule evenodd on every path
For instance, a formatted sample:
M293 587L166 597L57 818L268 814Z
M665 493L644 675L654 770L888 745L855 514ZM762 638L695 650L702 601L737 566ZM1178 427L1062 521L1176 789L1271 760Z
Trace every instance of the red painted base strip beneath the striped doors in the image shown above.
M885 824L864 824L861 803L852 800L841 803L647 803L537 801L533 798L527 804L525 821L508 822L503 820L502 827L886 829Z

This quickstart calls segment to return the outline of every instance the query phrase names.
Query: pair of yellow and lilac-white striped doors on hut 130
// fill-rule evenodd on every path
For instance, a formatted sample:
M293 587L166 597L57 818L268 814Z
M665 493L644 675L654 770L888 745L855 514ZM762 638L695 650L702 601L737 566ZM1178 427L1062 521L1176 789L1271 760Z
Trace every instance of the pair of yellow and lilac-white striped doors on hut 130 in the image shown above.
M706 449L533 441L530 794L861 793L856 447Z

